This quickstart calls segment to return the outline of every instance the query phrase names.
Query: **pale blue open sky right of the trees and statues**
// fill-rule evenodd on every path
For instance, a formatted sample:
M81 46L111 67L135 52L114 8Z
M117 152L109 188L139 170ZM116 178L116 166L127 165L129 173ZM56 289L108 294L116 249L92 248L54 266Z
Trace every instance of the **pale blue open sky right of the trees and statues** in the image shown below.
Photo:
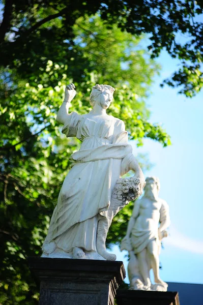
M163 148L146 139L142 147L133 147L134 154L148 153L154 166L145 175L159 177L159 197L170 208L170 235L163 239L160 255L162 280L203 284L203 90L187 99L177 89L161 88L162 80L180 63L165 51L157 62L162 66L161 74L155 78L147 103L152 123L162 124L171 136L172 145ZM120 253L118 247L113 251L117 260L124 261L127 270L127 252Z

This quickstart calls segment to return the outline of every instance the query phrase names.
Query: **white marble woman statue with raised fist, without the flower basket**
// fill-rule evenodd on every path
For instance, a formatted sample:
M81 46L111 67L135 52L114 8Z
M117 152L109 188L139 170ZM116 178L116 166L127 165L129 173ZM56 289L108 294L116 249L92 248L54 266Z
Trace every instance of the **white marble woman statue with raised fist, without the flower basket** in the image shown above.
M81 147L71 155L72 168L53 211L42 257L116 259L105 248L113 188L131 169L140 178L140 190L144 177L123 121L106 113L113 92L113 87L97 84L90 95L93 109L83 115L69 114L76 91L73 83L66 87L56 120L64 125L62 133L77 137Z

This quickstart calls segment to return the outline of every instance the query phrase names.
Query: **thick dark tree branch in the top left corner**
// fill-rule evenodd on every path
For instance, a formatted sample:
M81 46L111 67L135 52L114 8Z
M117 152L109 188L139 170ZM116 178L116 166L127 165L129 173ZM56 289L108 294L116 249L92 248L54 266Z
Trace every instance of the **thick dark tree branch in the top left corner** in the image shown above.
M6 0L4 18L2 24L0 25L0 43L4 41L5 35L11 26L12 4L13 0Z

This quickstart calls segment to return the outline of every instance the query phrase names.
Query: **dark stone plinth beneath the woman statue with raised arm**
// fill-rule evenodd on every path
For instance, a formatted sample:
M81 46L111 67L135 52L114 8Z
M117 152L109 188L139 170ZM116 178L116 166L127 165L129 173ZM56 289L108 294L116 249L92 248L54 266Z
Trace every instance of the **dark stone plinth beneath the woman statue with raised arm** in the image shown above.
M123 262L67 258L28 258L40 284L39 305L113 305L123 283Z

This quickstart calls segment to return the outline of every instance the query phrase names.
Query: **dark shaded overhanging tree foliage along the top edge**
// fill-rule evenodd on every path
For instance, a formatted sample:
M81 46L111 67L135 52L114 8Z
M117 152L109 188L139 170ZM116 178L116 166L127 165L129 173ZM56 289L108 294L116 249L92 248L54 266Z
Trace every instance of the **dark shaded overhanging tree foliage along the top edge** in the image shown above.
M0 26L0 66L16 69L24 78L45 69L47 60L59 62L62 56L70 60L75 45L75 21L85 14L99 12L109 27L117 24L122 31L137 36L147 33L151 58L166 49L170 56L180 59L181 68L164 83L180 87L180 93L187 97L202 87L203 23L197 18L203 11L200 0L4 0L1 3L4 13ZM181 34L186 37L183 43L179 42Z

